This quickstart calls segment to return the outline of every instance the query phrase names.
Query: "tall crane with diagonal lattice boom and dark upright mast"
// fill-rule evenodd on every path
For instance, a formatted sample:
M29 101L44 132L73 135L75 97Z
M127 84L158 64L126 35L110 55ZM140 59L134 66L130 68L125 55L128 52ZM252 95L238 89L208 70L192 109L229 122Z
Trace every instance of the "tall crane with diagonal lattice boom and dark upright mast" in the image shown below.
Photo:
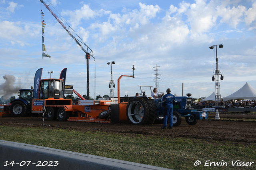
M60 23L60 25L62 25L62 27L68 32L68 34L74 39L74 41L76 41L76 43L79 45L79 47L81 47L81 49L84 51L84 53L86 53L85 58L86 58L86 67L87 67L87 99L89 100L90 99L90 91L89 91L89 59L90 59L90 56L94 58L94 54L93 54L92 50L84 43L84 41L77 34L76 35L79 37L79 39L74 37L74 35L72 35L72 33L70 33L70 31L68 31L68 29L72 29L69 25L68 25L68 29L66 29L66 26L60 21L60 19L49 8L50 4L46 5L43 0L40 0L40 2L42 2L44 4L44 6L54 16L54 18L56 18L56 20ZM74 30L72 29L72 31L74 31ZM76 33L76 32L74 31L74 33ZM84 49L84 47L81 44L85 45L87 49Z

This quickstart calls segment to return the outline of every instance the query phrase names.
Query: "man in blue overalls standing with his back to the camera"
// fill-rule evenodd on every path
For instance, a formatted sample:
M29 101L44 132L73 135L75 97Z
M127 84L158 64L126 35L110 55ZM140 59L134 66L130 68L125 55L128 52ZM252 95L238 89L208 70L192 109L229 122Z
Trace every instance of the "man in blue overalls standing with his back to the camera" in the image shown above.
M175 104L177 101L175 99L175 96L171 94L171 89L168 88L166 90L166 95L162 98L161 102L167 109L166 114L164 114L164 126L161 127L161 129L172 129L172 111L173 111L173 104ZM167 119L169 119L169 127L166 127L167 125Z

